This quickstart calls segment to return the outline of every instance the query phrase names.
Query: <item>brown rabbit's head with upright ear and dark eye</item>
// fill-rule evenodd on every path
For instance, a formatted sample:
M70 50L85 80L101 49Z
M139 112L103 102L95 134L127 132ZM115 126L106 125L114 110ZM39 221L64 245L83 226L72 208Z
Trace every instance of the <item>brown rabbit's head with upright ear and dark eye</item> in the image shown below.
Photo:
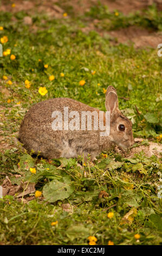
M118 108L118 96L114 87L109 86L106 91L105 106L110 112L110 134L113 143L122 148L129 148L134 144L132 123L121 114Z

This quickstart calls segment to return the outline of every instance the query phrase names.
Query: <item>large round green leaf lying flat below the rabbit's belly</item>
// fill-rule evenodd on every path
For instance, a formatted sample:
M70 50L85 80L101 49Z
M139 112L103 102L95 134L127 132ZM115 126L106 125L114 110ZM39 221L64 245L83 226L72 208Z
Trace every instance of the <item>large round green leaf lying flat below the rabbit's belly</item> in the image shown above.
M68 176L60 180L52 180L43 187L43 196L50 202L68 198L74 191L74 185Z

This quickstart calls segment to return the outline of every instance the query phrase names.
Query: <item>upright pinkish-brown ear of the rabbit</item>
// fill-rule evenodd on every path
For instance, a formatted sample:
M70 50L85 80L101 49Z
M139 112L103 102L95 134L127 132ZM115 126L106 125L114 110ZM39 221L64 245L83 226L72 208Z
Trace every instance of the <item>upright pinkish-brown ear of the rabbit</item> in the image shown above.
M118 96L113 86L107 87L105 106L111 114L118 109Z

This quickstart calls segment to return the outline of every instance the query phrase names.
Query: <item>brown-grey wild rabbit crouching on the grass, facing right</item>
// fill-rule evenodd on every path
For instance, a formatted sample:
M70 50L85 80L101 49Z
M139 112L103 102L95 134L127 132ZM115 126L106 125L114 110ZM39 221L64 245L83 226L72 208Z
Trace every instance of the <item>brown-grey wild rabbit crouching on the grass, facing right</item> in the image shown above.
M83 130L69 130L64 124L62 130L54 130L52 125L56 119L53 117L53 112L59 111L59 113L62 113L64 122L64 119L67 118L66 115L63 115L65 106L68 107L69 112L77 111L79 115L83 111L90 111L90 113L95 111L98 114L101 112L103 114L103 124L106 122L105 112L73 99L60 97L36 103L25 114L18 134L18 140L28 153L39 153L46 159L70 158L82 155L85 161L88 154L90 154L93 161L101 151L111 149L114 145L129 148L134 144L132 123L121 114L114 87L108 86L106 90L105 106L109 111L110 118L109 136L100 136L100 129L88 130L87 126ZM56 115L56 118L58 117L59 115ZM58 120L60 122L61 119ZM72 120L72 117L70 120Z

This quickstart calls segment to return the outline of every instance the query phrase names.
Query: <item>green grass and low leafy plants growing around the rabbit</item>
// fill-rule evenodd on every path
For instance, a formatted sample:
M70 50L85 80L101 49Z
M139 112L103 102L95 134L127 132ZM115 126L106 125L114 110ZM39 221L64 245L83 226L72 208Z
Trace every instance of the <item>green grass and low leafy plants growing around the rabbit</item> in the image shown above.
M84 34L81 28L87 14L82 19L49 19L35 14L32 18L36 31L23 24L25 13L16 13L16 22L11 20L12 16L0 14L0 26L4 27L0 38L6 35L9 39L3 51L10 48L16 56L15 60L10 60L10 55L0 59L1 132L4 143L10 146L0 155L1 184L5 175L17 185L21 181L35 182L36 190L43 191L46 199L49 181L60 182L63 198L61 184L64 181L69 197L59 200L55 197L51 203L37 198L29 204L18 202L14 196L1 199L1 244L88 245L87 237L94 235L98 245L107 245L109 240L115 245L160 245L161 199L157 193L161 163L158 157L149 158L141 152L129 160L110 151L105 152L106 158L100 154L94 166L87 163L82 170L77 166L77 162L82 164L81 158L49 163L37 157L33 159L12 145L25 112L34 103L52 97L70 97L105 110L103 88L109 85L116 88L120 109L133 122L134 137L159 142L162 62L157 49L113 46L95 31ZM100 15L100 19L105 16ZM159 19L158 14L154 15L154 22L158 23ZM111 24L113 27L113 21ZM44 64L48 64L48 69ZM96 71L94 75L92 71ZM61 72L64 77L60 76ZM3 80L3 75L12 81L11 85ZM49 81L50 75L54 75L55 80ZM25 88L25 80L31 83L29 89ZM82 87L81 80L86 81ZM46 87L48 94L41 96L40 87ZM21 103L17 105L17 102ZM37 174L31 174L30 167L35 167ZM15 174L22 176L14 179ZM101 191L106 191L108 197L99 197ZM70 212L62 210L62 203L70 204ZM131 209L134 209L132 222L121 223ZM109 211L114 213L111 219L107 217ZM51 222L55 221L58 224L52 227ZM140 234L139 241L134 234Z

